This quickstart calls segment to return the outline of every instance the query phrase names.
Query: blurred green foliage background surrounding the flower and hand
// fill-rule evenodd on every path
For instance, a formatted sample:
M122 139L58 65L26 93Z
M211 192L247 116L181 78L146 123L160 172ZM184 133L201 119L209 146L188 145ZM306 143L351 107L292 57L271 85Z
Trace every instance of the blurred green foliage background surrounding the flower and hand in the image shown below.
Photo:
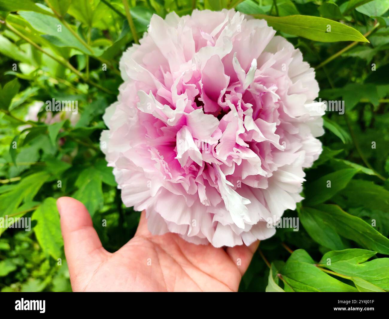
M324 150L306 172L305 201L285 212L300 218L300 230L278 229L261 242L240 291L389 290L387 0L0 0L0 217L32 218L32 231L0 228L0 290L71 290L60 196L86 205L107 250L133 236L139 213L122 204L100 151L102 115L122 82L119 58L152 14L194 8L266 15L316 67L319 97L345 103L343 115L324 116ZM283 18L293 15L315 19ZM321 42L323 31L307 29L312 21L339 33ZM350 34L370 43L346 41L356 39ZM77 100L78 114L48 114L52 99ZM338 263L326 265L328 256Z

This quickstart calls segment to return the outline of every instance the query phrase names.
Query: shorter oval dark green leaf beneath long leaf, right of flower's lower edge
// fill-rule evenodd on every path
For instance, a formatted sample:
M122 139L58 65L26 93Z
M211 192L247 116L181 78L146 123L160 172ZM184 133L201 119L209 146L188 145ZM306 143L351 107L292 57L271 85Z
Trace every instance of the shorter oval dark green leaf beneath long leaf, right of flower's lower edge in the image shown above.
M302 207L298 210L298 217L309 236L320 245L335 250L346 248L340 236L321 214Z

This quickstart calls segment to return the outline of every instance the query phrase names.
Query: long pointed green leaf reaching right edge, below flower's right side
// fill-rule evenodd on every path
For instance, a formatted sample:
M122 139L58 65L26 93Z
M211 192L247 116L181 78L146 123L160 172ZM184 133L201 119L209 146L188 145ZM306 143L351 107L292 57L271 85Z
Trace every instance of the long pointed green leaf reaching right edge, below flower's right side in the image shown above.
M382 236L359 217L350 215L339 206L333 204L320 204L303 207L310 214L316 214L323 219L340 236L359 243L362 247L389 255L389 239Z

